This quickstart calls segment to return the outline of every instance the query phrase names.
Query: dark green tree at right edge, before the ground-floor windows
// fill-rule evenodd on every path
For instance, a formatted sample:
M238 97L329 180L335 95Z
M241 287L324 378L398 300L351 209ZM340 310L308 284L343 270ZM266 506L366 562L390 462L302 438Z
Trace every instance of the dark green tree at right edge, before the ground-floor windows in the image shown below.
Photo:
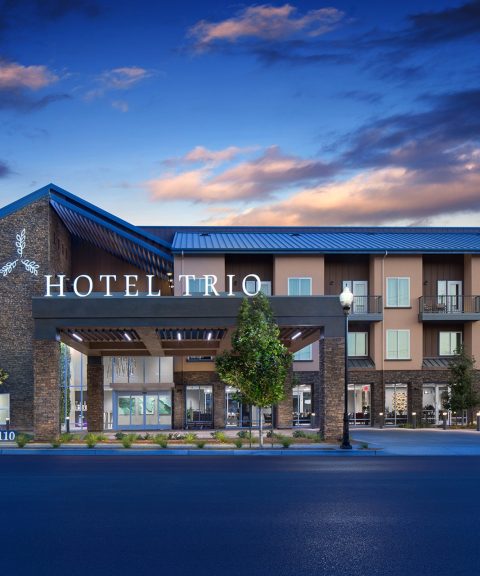
M480 395L475 390L475 358L462 345L449 362L448 383L450 390L446 407L453 412L473 410L480 404Z

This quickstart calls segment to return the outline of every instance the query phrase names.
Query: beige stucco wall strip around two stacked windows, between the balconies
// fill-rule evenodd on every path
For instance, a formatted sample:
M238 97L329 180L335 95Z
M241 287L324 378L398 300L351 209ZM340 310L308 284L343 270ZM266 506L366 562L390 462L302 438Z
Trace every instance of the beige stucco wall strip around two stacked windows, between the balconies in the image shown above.
M384 260L384 274L383 343L385 370L420 370L423 361L423 330L422 323L418 321L418 299L422 296L423 290L422 256L387 256ZM386 279L388 277L410 278L409 308L386 307ZM386 359L387 330L410 330L410 360Z

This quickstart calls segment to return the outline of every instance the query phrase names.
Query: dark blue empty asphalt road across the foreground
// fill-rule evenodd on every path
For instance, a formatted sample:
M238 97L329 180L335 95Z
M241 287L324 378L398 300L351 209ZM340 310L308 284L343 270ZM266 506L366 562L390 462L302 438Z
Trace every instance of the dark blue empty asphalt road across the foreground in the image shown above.
M477 457L0 457L6 576L480 574Z

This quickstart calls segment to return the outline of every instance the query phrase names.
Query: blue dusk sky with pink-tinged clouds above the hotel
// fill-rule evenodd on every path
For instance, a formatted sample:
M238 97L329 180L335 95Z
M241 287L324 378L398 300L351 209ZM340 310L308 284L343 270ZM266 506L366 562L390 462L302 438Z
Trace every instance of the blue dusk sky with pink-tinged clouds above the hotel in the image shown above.
M0 205L480 224L480 0L0 0Z

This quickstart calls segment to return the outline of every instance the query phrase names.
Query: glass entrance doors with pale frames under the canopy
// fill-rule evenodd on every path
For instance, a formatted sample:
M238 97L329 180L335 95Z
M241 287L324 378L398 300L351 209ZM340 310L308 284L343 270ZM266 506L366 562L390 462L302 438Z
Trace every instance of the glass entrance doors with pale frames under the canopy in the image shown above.
M172 427L172 392L114 392L113 427L158 429Z

